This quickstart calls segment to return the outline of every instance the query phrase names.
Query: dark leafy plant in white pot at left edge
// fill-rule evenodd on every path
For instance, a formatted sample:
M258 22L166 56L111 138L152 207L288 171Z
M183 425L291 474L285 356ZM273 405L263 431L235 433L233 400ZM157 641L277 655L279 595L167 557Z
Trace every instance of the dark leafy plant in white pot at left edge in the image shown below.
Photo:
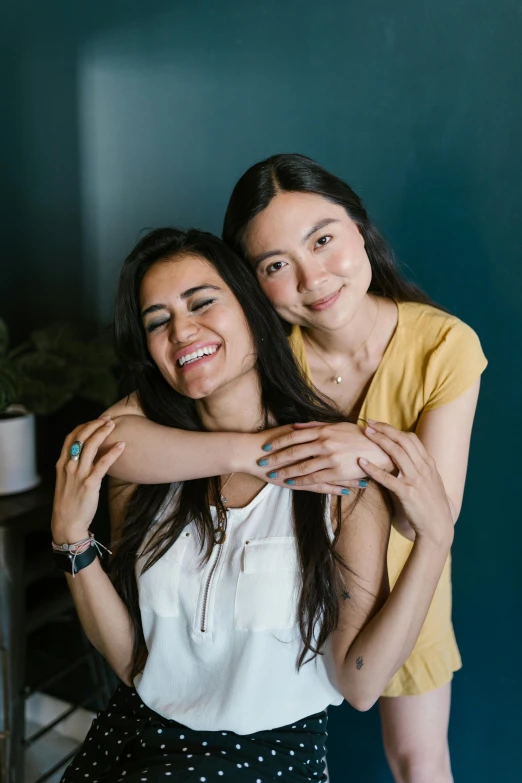
M85 338L70 325L51 324L11 348L0 319L0 495L40 481L35 415L55 413L75 397L109 406L117 397L114 367L106 334Z

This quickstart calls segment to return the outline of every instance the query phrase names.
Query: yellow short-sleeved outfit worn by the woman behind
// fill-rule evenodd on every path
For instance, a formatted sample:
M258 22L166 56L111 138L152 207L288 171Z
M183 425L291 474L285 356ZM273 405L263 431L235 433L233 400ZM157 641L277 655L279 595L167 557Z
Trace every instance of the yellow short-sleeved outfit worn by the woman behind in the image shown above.
M455 316L417 302L398 302L397 327L371 381L359 421L386 421L414 431L421 413L456 400L487 365L476 333ZM294 326L290 344L309 378L303 334ZM388 570L392 586L412 543L392 529ZM451 563L444 569L417 644L383 695L426 693L449 682L461 667L451 622Z

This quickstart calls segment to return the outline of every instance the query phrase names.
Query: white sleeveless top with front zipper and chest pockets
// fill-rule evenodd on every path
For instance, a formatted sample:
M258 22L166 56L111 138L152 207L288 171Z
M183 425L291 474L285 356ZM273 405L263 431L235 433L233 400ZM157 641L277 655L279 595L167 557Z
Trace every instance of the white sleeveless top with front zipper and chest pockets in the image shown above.
M208 563L193 523L141 575L144 562L136 573L149 654L134 684L151 709L191 729L252 734L342 702L328 645L297 670L291 490L267 484L228 509L226 539Z

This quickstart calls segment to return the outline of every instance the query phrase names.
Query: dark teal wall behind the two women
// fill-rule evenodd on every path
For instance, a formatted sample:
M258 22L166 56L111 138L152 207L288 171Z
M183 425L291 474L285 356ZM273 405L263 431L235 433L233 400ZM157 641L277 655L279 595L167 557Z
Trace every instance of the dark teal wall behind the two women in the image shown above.
M81 7L77 7L81 6ZM456 781L520 780L522 5L69 0L2 6L0 314L110 319L141 228L219 231L251 163L300 151L362 194L490 359L454 547ZM518 694L518 696L517 696ZM332 711L334 783L389 775Z

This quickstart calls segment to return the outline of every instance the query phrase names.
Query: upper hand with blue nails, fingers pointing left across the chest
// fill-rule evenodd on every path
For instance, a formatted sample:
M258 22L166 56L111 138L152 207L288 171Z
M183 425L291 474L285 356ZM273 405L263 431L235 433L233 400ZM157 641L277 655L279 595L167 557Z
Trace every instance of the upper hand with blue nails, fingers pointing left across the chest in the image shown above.
M269 445L258 464L271 481L284 482L292 489L325 484L364 487L366 474L358 462L361 457L382 470L395 468L385 451L366 438L360 427L348 422L294 424L289 433Z

